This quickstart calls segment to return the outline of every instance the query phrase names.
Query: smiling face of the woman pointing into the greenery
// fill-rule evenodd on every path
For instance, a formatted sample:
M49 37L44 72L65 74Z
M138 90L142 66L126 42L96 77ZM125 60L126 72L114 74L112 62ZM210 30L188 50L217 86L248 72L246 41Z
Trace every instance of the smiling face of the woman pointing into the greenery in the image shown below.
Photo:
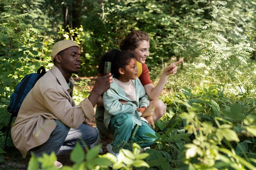
M149 56L149 47L149 42L143 40L139 44L139 47L132 51L138 62L145 63L146 57Z

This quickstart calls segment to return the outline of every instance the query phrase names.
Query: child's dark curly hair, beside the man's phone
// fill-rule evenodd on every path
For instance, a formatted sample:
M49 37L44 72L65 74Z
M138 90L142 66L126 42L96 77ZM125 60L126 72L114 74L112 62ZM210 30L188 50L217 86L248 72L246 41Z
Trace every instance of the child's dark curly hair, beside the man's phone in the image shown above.
M103 73L105 62L111 62L110 73L113 75L113 77L118 78L120 76L119 68L125 68L132 58L135 58L135 55L129 51L112 49L111 51L102 55L99 63L99 73Z

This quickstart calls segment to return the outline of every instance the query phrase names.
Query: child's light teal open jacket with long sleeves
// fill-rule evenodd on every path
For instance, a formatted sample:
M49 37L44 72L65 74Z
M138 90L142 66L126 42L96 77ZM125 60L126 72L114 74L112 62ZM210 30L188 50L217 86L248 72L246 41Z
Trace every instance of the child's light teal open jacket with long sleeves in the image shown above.
M119 113L133 115L133 119L135 120L136 124L141 126L141 113L136 111L136 109L143 106L147 108L149 105L149 98L148 95L146 95L146 91L138 78L132 80L132 83L134 84L136 91L135 101L132 101L130 98L126 97L126 94L114 79L110 84L110 89L108 89L108 91L103 94L103 103L105 108L104 125L107 129L110 118ZM122 105L119 102L120 99L127 101L127 103Z

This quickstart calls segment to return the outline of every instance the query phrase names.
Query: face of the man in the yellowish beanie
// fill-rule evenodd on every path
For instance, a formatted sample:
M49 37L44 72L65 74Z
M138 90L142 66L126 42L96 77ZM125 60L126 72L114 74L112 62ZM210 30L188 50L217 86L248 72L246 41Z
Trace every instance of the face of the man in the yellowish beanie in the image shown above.
M81 67L80 51L77 46L65 49L61 54L61 69L65 73L77 74Z

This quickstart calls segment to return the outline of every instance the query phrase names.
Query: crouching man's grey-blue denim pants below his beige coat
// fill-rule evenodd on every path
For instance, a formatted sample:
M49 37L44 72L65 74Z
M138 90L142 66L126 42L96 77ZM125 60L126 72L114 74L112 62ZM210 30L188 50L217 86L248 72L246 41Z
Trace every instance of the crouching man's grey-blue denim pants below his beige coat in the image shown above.
M73 129L59 120L55 120L55 122L56 128L49 139L44 144L32 149L36 157L41 157L43 153L50 155L52 151L56 155L61 155L73 150L77 142L83 147L82 141L90 146L97 140L97 130L89 125L81 124L78 128Z

